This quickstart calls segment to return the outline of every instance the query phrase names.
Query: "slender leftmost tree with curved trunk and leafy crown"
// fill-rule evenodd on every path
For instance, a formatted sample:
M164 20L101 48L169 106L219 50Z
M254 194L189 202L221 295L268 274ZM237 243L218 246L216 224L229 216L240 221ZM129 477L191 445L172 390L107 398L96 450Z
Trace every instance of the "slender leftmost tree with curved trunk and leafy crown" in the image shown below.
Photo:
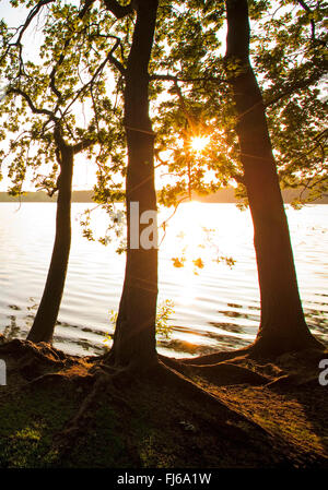
M10 165L10 176L14 180L11 192L22 192L26 166L37 169L47 163L52 164L52 170L46 177L36 177L36 180L40 180L38 187L45 188L50 195L58 191L56 236L50 265L42 300L27 336L28 340L35 343L51 343L65 288L71 243L74 156L87 148L91 151L91 147L97 143L99 156L95 159L101 165L106 162L110 151L112 106L104 94L104 69L112 48L109 55L107 53L105 59L99 61L98 56L94 59L89 53L90 46L84 43L84 48L80 49L79 53L80 70L82 73L84 71L82 76L77 72L74 63L77 41L85 32L85 26L80 15L80 23L75 29L74 9L67 7L63 11L55 5L51 12L54 17L48 17L44 27L45 40L40 45L40 53L44 58L42 65L28 60L27 56L27 59L24 59L21 45L23 38L21 33L36 15L37 9L34 10L34 15L27 16L27 21L21 27L19 40L12 41L9 37L3 46L7 57L3 71L9 85L2 115L10 115L3 126L15 135L8 152L9 156L13 157ZM54 28L55 25L56 28ZM51 37L47 37L49 34ZM87 108L90 100L92 104L89 104L91 107ZM89 109L86 128L79 127L77 122L75 115L77 111L79 113L79 109L75 106L78 105L80 110L82 107L84 110ZM105 107L106 110L104 110ZM32 120L31 112L34 117ZM114 119L113 112L112 117ZM19 136L15 133L19 133ZM107 140L107 146L104 148L105 140Z

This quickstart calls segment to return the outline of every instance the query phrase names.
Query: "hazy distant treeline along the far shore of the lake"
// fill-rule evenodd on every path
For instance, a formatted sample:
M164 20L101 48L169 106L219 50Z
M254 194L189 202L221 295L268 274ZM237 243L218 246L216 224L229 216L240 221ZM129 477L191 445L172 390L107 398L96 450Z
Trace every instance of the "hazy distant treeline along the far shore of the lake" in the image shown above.
M93 191L73 191L74 203L90 203L92 201ZM300 190L297 189L284 189L282 191L283 201L285 203L291 203L294 199L300 195ZM214 194L209 195L195 195L196 201L204 203L235 203L235 192L233 188L221 189ZM0 192L0 202L33 202L33 203L45 203L45 202L56 202L57 195L49 198L46 192L26 192L20 198L14 198L9 195L7 192ZM328 195L323 199L315 201L315 204L328 204Z

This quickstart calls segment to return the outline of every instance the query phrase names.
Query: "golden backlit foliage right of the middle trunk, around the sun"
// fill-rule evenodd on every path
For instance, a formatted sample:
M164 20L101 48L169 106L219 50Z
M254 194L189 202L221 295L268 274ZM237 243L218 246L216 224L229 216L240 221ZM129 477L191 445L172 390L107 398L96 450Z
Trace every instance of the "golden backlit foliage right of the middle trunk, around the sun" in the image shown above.
M167 46L161 60L153 61L153 79L166 84L166 98L156 106L155 121L159 167L169 176L160 200L168 205L232 181L246 202L229 87L232 71L243 67L237 59L224 59L221 50L223 3L186 1L159 27ZM281 184L303 188L300 202L313 201L327 192L327 9L320 1L250 1L249 10L251 59ZM190 139L201 134L209 134L210 143L194 155Z

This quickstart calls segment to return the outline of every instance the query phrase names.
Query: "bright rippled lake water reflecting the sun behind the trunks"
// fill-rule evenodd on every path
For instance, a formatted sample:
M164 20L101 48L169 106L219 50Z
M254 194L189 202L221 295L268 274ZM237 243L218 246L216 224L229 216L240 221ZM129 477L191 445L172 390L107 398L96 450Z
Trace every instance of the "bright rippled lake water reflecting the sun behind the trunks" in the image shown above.
M99 354L113 332L125 256L82 237L73 204L72 248L55 345L77 354ZM301 296L312 331L328 342L328 206L288 207ZM55 234L56 204L0 204L0 332L24 337L43 292ZM169 214L169 212L168 212ZM162 217L167 216L162 214ZM93 213L95 229L106 216ZM161 220L161 219L160 219ZM223 260L232 258L230 267ZM194 262L195 261L195 262ZM184 264L181 267L175 265ZM160 251L159 302L174 301L169 339L160 351L192 356L250 343L259 324L259 290L249 212L233 204L188 203L168 222Z

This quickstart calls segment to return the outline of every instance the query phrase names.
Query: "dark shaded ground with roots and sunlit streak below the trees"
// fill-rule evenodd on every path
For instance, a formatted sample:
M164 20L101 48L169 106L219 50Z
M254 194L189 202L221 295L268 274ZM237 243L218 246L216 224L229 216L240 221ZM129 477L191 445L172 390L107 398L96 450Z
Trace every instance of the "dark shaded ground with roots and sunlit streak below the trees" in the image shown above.
M328 350L206 364L161 357L161 369L125 377L101 357L1 342L1 468L328 467L318 382Z

